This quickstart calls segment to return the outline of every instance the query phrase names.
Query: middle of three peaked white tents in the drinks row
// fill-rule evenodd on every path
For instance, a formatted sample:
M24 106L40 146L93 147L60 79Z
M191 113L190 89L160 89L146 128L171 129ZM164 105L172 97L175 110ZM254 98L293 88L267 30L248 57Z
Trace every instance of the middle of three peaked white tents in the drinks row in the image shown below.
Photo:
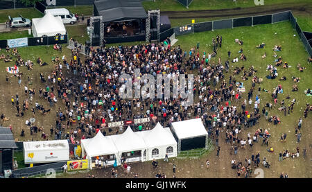
M114 144L119 151L117 164L121 164L121 157L125 157L127 162L143 162L144 150L146 143L144 139L139 137L137 132L133 132L130 126L123 134L109 136L114 141Z

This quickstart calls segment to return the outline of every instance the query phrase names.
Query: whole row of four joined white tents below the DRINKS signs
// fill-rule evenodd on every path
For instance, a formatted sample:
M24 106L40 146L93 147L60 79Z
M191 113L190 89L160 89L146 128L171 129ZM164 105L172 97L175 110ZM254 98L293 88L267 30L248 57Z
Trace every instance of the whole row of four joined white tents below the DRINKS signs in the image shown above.
M107 165L125 162L146 162L153 159L177 157L181 150L207 147L208 133L201 119L172 123L163 128L157 123L152 130L133 132L128 127L123 134L104 137L99 131L92 139L81 140L82 156L88 159L89 168L96 158L103 156Z

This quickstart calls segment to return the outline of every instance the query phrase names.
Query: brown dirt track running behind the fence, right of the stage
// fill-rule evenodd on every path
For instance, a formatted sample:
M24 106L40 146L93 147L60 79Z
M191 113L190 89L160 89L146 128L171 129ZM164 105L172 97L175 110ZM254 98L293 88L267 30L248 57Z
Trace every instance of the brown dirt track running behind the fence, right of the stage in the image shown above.
M168 15L171 19L184 18L207 18L207 17L227 17L236 16L243 17L247 15L266 15L272 12L282 12L292 10L300 14L312 14L311 3L284 3L274 6L256 6L252 8L232 8L220 10L191 10L191 11L162 11L162 15Z

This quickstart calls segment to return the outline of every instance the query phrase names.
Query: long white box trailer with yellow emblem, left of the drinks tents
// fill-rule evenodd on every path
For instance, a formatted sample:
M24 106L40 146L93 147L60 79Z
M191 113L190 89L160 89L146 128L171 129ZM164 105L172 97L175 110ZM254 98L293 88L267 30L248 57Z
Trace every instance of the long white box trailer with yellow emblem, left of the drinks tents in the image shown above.
M24 142L25 164L64 162L69 160L67 140Z

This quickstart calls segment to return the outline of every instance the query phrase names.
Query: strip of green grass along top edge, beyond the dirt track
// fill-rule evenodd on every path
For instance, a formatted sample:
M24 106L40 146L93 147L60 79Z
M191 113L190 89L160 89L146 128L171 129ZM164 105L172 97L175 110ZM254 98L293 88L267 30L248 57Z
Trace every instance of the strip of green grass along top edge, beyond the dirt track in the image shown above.
M285 3L302 3L309 2L307 0L264 0L264 6L285 4ZM193 0L189 9L182 6L176 0L156 0L144 1L142 5L146 10L160 9L162 11L182 11L182 10L217 10L227 8L248 8L253 7L253 0L237 0L237 4L233 0Z

